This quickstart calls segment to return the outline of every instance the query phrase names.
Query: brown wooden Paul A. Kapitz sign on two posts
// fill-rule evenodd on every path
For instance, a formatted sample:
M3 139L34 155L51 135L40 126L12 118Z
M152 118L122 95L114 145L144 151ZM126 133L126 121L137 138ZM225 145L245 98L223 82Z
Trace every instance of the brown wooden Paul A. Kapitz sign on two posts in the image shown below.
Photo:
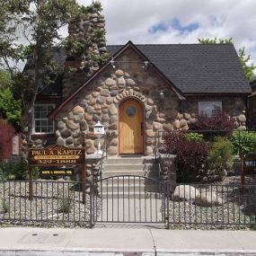
M49 170L49 175L61 175L70 173L70 166L81 165L84 166L82 171L82 186L85 188L86 181L86 165L85 165L85 149L84 148L67 148L65 146L48 146L46 148L29 148L29 184L30 195L29 199L32 199L32 166L40 167L63 167L69 166L67 172L65 169L56 168L56 170ZM85 173L84 173L85 172ZM84 185L83 185L84 184ZM85 202L86 190L83 189L83 202Z

